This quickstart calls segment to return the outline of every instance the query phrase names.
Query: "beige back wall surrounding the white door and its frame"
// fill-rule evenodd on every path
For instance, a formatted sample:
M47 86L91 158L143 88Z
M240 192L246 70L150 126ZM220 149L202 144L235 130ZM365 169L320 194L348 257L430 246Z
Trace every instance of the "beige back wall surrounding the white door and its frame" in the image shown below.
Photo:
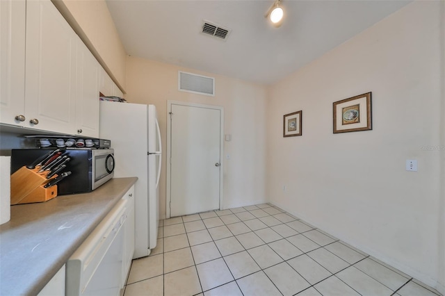
M215 97L180 92L178 71L215 77ZM266 88L216 74L157 63L143 58L127 58L127 101L154 104L158 111L163 142L160 180L160 215L165 217L167 101L187 101L224 108L223 207L232 208L266 201Z

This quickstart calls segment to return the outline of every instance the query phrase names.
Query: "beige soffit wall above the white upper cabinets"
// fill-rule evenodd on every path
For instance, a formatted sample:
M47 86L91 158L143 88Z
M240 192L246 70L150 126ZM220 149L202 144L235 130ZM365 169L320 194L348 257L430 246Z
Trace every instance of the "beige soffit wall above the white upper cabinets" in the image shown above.
M52 0L111 79L125 92L127 53L104 0Z

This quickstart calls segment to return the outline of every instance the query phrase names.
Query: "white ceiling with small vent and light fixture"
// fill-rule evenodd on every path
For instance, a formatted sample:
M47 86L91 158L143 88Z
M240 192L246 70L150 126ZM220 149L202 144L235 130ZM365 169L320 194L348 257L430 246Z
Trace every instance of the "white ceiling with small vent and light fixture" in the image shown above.
M106 0L127 54L270 84L352 38L409 1L282 0L280 28L264 17L273 1ZM204 35L203 19L232 29Z

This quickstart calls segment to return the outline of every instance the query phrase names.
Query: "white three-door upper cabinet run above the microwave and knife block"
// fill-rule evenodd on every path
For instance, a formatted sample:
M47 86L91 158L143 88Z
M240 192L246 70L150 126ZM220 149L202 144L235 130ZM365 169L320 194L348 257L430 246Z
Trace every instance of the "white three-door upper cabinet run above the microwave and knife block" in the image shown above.
M50 0L0 0L0 123L99 136L99 63Z

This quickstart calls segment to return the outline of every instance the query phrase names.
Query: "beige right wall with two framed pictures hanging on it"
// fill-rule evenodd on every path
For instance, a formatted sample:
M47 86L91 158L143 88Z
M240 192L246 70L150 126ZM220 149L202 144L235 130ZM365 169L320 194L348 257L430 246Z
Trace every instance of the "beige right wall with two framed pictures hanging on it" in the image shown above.
M443 6L411 3L276 83L266 116L270 202L442 293ZM332 102L369 91L373 131L333 134ZM283 138L297 110L302 136Z

